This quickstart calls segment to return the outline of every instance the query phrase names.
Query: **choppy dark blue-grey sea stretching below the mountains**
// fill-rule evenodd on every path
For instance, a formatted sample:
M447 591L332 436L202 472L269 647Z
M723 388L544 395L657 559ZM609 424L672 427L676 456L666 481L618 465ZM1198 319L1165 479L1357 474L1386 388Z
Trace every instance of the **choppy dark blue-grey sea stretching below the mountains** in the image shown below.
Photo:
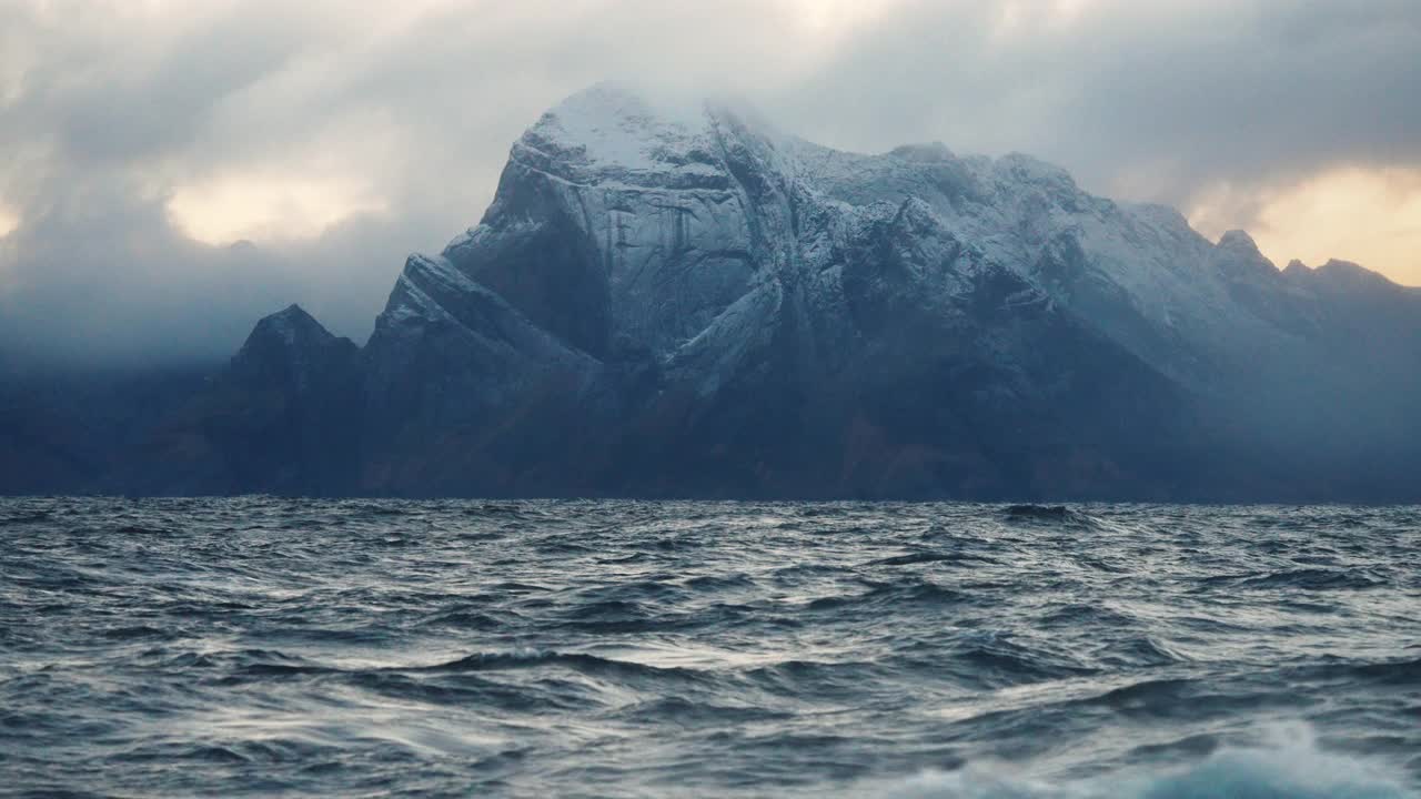
M1421 796L1421 509L0 500L0 792Z

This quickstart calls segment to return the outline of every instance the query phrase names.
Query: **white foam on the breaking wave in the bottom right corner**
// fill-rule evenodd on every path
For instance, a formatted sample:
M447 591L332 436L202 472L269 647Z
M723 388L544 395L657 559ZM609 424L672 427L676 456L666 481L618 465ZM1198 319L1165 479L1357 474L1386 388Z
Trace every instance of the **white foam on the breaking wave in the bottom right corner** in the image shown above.
M1155 775L1052 785L1019 769L969 765L922 773L874 793L884 799L1421 799L1393 768L1323 751L1306 728L1276 728L1266 739Z

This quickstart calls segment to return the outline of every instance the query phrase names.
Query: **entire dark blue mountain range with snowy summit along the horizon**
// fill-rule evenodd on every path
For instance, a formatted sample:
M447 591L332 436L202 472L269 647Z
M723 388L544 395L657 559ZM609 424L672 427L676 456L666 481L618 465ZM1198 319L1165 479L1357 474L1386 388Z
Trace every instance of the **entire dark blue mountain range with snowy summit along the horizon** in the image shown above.
M293 306L207 380L0 391L0 490L1421 500L1418 367L1356 264L598 85L364 348Z

